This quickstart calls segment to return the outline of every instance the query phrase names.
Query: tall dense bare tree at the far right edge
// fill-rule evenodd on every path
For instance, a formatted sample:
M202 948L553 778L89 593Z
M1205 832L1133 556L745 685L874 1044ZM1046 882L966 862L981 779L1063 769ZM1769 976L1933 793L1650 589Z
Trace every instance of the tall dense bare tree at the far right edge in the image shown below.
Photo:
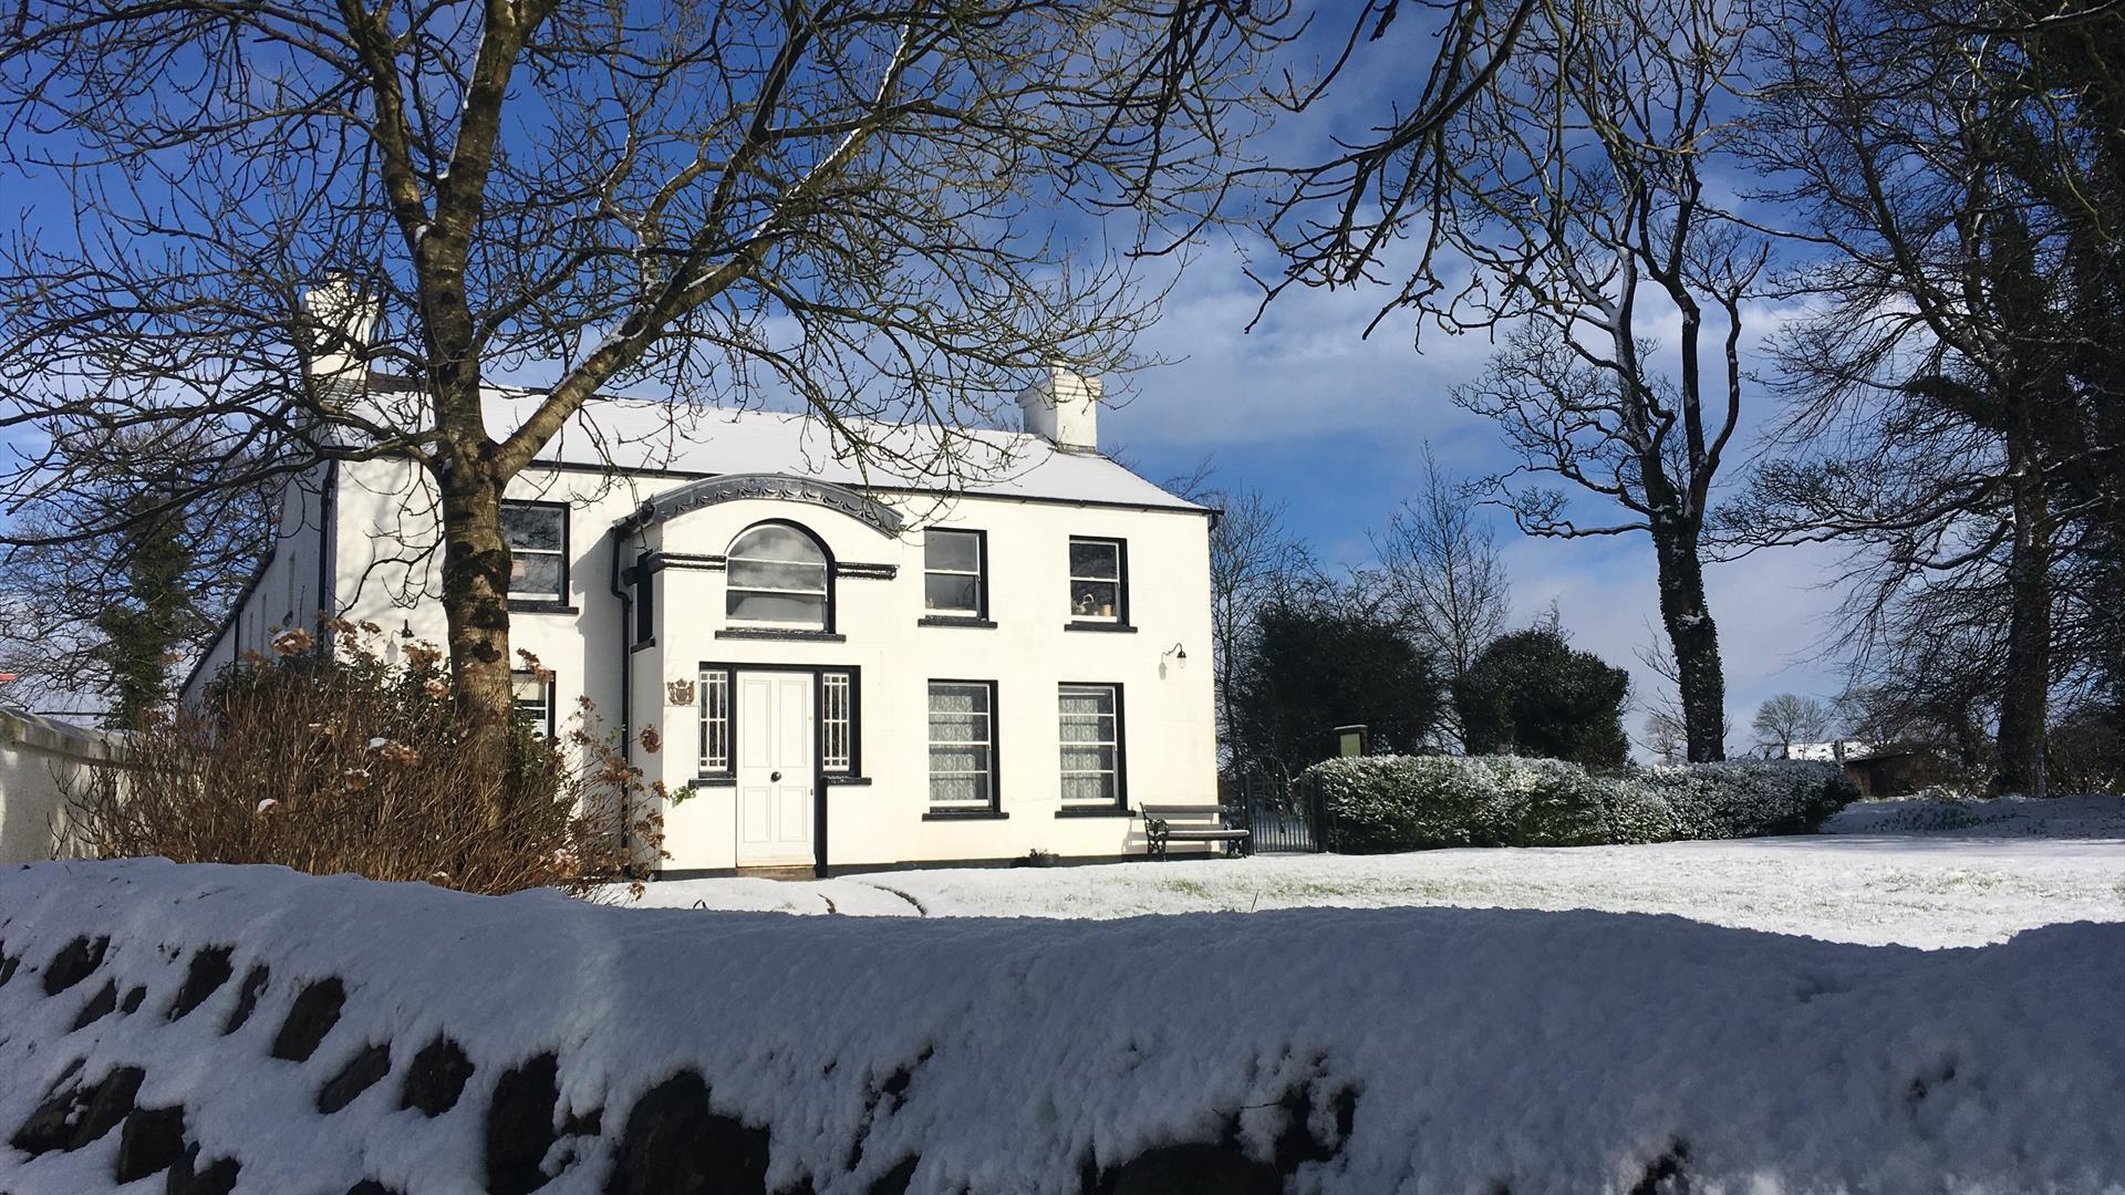
M1813 310L1779 351L1791 453L1730 523L1749 542L1853 544L1853 625L1893 651L1946 634L1900 612L2004 612L1998 640L1959 642L1998 666L1995 785L2042 791L2048 695L2072 668L2059 636L2082 625L2061 621L2059 568L2114 542L2125 476L2125 272L2114 217L2089 206L2125 198L2121 89L2089 55L2121 17L1927 0L1781 15L1749 149L1823 253L1791 279Z

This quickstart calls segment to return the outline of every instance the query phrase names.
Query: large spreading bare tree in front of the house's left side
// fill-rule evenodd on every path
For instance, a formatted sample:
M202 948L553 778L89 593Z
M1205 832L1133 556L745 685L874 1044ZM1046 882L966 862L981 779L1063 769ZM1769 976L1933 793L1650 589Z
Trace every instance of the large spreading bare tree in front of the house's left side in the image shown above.
M844 449L886 451L848 442L856 417L954 427L1054 359L1124 366L1156 296L1099 255L1090 217L1201 215L1279 17L1160 0L23 6L0 113L13 166L53 198L0 247L0 425L45 444L185 430L219 468L166 508L323 459L410 457L440 515L459 714L470 748L495 753L502 489L589 398L776 385ZM344 385L372 330L366 364L402 391L361 391L359 368ZM482 410L497 370L538 378L512 427ZM30 449L0 491L21 510L79 481Z

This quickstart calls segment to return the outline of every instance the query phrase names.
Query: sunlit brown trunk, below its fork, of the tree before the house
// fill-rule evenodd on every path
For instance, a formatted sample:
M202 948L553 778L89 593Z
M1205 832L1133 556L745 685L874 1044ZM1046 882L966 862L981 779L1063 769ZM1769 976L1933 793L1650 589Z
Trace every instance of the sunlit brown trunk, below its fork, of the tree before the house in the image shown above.
M457 455L442 470L442 610L448 619L450 693L465 751L499 778L510 763L510 546L502 536L502 485L484 455ZM499 785L482 800L497 817Z

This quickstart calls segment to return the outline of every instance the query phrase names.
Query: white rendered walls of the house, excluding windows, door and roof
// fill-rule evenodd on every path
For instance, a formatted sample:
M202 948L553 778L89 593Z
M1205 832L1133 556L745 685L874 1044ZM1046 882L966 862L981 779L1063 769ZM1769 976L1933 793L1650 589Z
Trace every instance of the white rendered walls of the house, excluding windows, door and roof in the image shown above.
M620 600L612 595L612 525L652 493L686 478L608 478L593 472L529 472L514 500L570 502L572 612L516 612L514 649L555 672L565 719L589 695L608 725L620 710ZM434 515L416 472L400 461L348 464L336 493L340 608L387 629L412 627L444 642ZM669 704L667 683L693 683L703 663L856 668L861 672L861 772L869 785L827 787L827 859L833 868L1014 859L1028 851L1114 857L1143 851L1141 821L1056 817L1060 810L1058 693L1062 683L1122 685L1124 789L1128 806L1213 804L1216 729L1209 668L1209 517L1016 498L884 498L912 523L988 532L988 608L994 627L922 627L922 532L884 536L824 506L733 500L678 515L629 542L669 555L722 555L763 519L816 534L837 563L895 566L890 580L835 580L839 642L731 638L725 574L665 568L654 574L657 640L627 655L635 763L678 791L699 772L699 706ZM1128 615L1135 634L1067 632L1069 538L1128 542ZM414 551L408 551L408 544ZM1164 653L1182 644L1186 668ZM1003 819L924 821L929 812L929 680L997 683L997 759ZM695 693L695 702L699 693ZM646 725L663 740L640 746ZM735 865L729 787L701 785L665 812L667 870Z

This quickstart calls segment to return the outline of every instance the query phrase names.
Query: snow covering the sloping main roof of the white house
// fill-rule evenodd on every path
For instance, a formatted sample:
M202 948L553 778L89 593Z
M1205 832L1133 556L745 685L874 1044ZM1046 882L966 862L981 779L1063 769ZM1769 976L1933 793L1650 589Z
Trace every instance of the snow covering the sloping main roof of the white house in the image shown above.
M487 391L493 436L516 430L544 395ZM1116 506L1207 510L1099 453L1058 451L1041 436L846 421L635 398L593 398L540 453L542 461L680 474L793 474L856 489L922 489ZM850 440L865 451L852 453Z

